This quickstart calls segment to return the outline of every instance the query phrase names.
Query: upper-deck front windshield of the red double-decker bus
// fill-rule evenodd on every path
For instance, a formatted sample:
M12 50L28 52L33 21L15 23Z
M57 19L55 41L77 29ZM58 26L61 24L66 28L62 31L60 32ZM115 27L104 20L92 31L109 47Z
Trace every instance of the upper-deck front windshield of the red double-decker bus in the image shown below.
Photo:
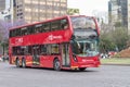
M92 17L73 16L72 23L74 29L96 29Z

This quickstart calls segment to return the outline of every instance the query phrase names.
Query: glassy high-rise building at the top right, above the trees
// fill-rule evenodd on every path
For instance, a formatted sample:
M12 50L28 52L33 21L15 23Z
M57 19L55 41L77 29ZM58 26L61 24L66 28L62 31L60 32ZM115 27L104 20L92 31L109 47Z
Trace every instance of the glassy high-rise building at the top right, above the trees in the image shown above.
M109 0L108 2L108 15L109 23L120 22L122 26L128 28L128 16L129 13L129 4L130 0Z

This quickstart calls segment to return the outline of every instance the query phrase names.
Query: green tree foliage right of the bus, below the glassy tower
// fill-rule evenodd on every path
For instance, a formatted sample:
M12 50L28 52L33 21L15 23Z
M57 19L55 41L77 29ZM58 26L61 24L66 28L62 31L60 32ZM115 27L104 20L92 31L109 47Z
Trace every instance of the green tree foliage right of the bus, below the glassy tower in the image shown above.
M117 51L122 50L127 47L127 42L129 40L127 28L119 26L115 27L113 25L108 25L108 27L105 25L102 25L103 32L101 32L101 42L100 42L100 49L102 52L107 51Z

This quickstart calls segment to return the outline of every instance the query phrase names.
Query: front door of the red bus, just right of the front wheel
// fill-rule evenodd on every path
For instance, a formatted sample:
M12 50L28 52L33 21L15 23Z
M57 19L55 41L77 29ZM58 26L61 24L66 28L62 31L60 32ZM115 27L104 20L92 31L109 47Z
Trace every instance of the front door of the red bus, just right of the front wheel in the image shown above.
M69 44L62 45L62 65L63 66L70 66Z

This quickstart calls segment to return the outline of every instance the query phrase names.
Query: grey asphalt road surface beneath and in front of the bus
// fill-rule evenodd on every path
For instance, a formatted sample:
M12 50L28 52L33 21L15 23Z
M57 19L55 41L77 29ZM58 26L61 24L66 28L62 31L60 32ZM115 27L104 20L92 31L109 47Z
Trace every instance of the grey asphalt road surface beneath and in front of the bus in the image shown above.
M0 87L130 87L130 66L101 65L84 72L56 72L0 62Z

